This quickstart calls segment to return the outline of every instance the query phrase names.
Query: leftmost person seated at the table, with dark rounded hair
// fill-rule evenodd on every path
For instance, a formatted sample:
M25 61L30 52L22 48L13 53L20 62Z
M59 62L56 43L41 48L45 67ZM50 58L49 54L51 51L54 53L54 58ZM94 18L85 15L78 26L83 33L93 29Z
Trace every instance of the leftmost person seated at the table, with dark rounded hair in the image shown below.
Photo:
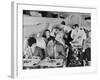
M29 37L28 48L25 50L26 58L32 59L33 56L38 56L41 59L44 58L44 49L38 44L39 40L37 40L35 37Z

